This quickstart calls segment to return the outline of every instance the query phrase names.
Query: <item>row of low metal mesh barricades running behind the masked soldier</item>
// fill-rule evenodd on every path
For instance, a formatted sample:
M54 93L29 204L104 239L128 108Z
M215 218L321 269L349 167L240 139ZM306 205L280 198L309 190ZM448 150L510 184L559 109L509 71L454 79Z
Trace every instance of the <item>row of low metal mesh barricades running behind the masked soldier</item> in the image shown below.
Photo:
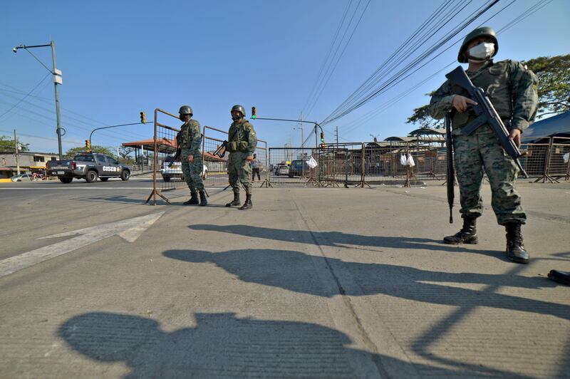
M537 137L534 137L536 140ZM544 137L523 143L522 167L536 182L570 180L570 138ZM403 165L412 158L414 165ZM306 161L317 162L310 169ZM277 185L317 185L322 187L373 184L419 183L419 180L446 179L446 147L440 139L348 142L326 147L270 147L269 181Z

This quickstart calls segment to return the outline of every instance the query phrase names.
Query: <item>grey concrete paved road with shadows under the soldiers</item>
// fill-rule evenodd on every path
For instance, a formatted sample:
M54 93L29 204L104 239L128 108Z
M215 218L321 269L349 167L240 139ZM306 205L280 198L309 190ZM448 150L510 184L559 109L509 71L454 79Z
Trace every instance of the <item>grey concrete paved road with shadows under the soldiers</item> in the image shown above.
M488 207L479 245L440 244L460 219L435 183L256 188L247 212L150 187L0 185L0 271L61 253L0 276L0 376L570 377L570 288L545 277L570 271L569 183L519 185L528 265Z

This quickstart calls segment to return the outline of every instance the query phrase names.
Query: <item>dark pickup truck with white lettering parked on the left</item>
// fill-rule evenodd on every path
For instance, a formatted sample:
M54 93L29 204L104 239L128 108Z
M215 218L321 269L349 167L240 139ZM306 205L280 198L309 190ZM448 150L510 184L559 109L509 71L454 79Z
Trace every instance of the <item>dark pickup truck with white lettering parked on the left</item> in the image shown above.
M71 183L73 178L85 179L88 183L99 178L106 182L110 177L129 180L130 168L115 158L97 152L82 152L73 160L50 160L46 163L48 175L56 176L62 183Z

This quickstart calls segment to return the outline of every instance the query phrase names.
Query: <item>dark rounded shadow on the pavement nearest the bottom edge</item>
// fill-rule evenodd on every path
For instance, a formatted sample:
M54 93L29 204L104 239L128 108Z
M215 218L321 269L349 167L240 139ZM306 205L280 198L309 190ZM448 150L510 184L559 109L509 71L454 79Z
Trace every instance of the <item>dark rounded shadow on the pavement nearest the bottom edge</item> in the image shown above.
M70 318L58 334L92 360L125 363L131 369L125 378L363 378L378 377L379 371L412 378L423 370L439 376L473 374L348 348L346 334L314 323L237 318L234 313L197 313L195 318L195 327L166 332L149 318L93 312Z

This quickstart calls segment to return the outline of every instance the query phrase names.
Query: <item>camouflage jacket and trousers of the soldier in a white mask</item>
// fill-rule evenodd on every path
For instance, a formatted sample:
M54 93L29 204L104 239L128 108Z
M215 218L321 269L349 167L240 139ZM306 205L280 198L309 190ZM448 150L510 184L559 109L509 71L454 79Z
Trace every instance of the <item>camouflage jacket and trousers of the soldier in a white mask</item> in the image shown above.
M477 71L466 71L473 85L483 88L489 100L507 126L522 132L537 113L537 77L517 61L489 61ZM432 95L430 115L444 118L452 110L454 95L469 97L469 93L455 83L446 81ZM473 219L483 212L481 186L483 167L492 190L492 207L497 222L524 224L527 215L521 207L521 197L514 188L517 166L504 152L489 125L482 125L469 136L461 135L463 126L475 119L469 112L452 113L453 148L457 181L460 185L461 213Z

